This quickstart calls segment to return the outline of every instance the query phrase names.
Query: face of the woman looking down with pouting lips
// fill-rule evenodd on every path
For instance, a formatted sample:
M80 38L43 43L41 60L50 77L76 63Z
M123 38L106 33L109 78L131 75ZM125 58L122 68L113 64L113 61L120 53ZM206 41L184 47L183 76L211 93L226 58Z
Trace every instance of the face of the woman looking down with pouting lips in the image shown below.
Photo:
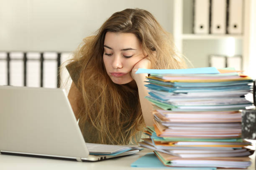
M144 57L141 42L133 33L106 33L103 61L114 83L122 85L133 81L130 72Z

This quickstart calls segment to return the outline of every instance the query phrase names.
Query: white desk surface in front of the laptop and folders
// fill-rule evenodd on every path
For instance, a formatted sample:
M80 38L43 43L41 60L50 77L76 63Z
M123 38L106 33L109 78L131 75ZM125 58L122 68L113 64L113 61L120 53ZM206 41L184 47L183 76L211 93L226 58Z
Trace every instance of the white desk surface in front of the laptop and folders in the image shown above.
M100 162L76 162L69 160L55 160L47 158L31 158L23 156L0 155L1 170L151 170L152 168L133 168L131 163L136 161L151 150L144 149L134 155L121 158L113 158ZM252 165L248 170L255 170L255 153L250 156ZM159 169L163 170L163 169ZM173 169L172 169L173 170ZM219 170L219 169L218 169ZM222 169L223 170L223 169ZM231 170L231 169L229 169Z

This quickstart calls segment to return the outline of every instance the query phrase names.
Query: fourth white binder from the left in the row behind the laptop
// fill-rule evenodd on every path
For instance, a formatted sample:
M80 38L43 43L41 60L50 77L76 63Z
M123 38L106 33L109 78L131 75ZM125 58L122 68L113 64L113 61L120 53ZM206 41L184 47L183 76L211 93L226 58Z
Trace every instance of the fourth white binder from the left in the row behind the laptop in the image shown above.
M43 87L57 88L57 52L44 52Z

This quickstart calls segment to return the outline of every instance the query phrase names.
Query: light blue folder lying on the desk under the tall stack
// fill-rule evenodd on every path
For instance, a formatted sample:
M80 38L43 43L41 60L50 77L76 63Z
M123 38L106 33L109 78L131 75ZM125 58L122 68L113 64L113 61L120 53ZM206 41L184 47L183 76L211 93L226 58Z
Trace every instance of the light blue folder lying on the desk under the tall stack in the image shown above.
M216 170L217 168L205 168L205 167L167 167L161 163L154 153L148 153L143 157L136 160L131 164L131 167L138 168L167 168L167 169L180 169L180 170Z

